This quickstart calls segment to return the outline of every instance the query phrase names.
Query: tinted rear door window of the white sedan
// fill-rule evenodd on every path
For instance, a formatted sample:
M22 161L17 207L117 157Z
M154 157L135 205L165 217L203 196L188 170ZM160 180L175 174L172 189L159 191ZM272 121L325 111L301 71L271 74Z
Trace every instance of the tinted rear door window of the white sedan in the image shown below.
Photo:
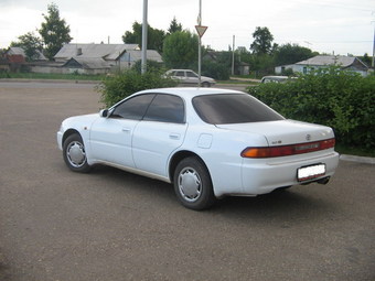
M159 94L152 100L143 120L183 123L185 121L184 102L178 96Z

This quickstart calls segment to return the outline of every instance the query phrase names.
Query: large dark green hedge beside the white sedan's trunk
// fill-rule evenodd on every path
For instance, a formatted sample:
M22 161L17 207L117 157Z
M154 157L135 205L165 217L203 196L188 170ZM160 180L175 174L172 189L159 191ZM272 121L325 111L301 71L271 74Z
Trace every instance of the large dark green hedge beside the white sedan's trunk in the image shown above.
M338 142L375 148L375 77L338 67L286 84L261 84L248 93L287 118L330 126Z

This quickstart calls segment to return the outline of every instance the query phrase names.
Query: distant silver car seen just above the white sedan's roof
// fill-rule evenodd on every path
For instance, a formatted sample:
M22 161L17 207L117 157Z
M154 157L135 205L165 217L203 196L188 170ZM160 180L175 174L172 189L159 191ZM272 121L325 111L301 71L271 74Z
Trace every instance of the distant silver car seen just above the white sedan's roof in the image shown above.
M175 79L180 85L193 86L199 85L199 75L191 69L170 69L165 73L165 76L170 76ZM211 87L215 85L216 82L213 78L201 75L201 85L203 87Z

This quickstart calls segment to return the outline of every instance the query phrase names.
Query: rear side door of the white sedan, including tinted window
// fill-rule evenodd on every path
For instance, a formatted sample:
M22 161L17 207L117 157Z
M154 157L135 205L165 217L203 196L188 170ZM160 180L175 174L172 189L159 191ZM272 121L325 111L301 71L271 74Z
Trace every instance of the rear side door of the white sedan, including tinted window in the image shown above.
M132 154L137 169L168 176L168 161L185 138L184 101L181 97L158 94L143 120L135 128Z

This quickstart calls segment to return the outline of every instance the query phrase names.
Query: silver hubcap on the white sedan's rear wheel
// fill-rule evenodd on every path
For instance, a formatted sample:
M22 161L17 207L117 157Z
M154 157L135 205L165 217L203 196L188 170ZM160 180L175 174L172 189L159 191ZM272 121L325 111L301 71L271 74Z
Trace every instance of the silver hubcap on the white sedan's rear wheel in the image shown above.
M185 201L197 201L202 193L202 182L199 173L192 167L183 169L179 174L179 188Z

